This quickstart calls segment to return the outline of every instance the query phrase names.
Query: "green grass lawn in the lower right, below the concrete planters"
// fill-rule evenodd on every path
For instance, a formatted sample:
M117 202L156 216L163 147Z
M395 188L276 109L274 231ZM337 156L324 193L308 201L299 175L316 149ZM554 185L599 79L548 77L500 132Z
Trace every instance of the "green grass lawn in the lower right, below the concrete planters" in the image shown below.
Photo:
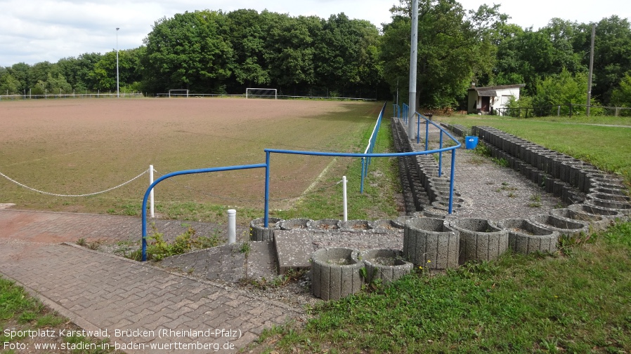
M571 252L415 273L266 332L260 353L629 353L631 224ZM275 350L275 351L272 351Z

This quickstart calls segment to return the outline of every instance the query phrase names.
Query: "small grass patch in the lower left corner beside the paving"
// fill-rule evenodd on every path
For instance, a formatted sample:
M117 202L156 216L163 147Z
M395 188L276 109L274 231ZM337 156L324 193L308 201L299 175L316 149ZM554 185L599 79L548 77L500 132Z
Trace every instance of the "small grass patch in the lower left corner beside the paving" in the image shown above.
M68 330L80 329L67 318L50 311L37 299L30 297L22 287L1 277L0 329L0 343L2 344L0 353L115 353L115 350L110 350L108 343L104 341L76 335L59 336L60 331L67 332ZM24 333L23 331L37 329L53 331L52 333L55 336L30 337L28 335L20 335ZM41 347L37 348L37 346ZM43 346L47 346L47 348L44 349ZM52 346L56 346L56 348L53 349ZM67 350L62 349L62 346L77 349ZM91 348L91 346L94 348Z

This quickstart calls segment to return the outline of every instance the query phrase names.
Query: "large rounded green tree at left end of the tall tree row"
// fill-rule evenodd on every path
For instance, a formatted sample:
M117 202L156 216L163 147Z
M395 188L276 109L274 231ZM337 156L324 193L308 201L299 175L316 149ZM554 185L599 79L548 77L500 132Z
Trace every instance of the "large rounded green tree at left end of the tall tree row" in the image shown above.
M145 39L145 85L153 93L188 88L197 93L225 90L233 48L226 18L217 11L178 13L155 22Z

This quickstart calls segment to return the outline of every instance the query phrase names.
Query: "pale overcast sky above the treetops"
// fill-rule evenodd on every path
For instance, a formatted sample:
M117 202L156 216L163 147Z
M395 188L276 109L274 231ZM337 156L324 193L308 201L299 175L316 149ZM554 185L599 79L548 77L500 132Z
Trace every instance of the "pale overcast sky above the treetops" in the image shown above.
M35 64L83 53L137 48L156 20L195 10L257 11L318 15L345 13L381 27L390 22L389 9L398 0L0 0L0 66ZM466 9L493 1L460 0ZM551 18L598 22L618 15L631 18L631 1L503 0L501 10L521 27L543 27ZM117 33L116 27L119 27Z

